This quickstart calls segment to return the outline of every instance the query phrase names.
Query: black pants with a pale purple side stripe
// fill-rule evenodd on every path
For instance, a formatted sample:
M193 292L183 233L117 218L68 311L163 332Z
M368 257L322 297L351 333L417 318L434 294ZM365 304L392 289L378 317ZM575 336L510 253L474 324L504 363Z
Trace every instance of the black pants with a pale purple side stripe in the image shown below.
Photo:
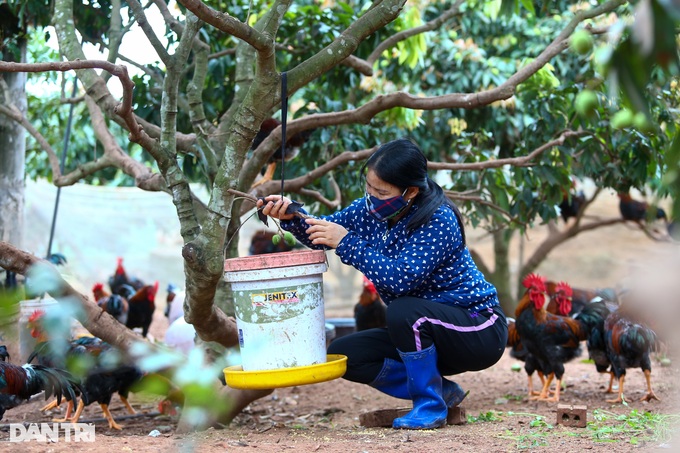
M395 299L387 307L387 328L340 337L330 354L347 356L345 379L370 384L386 358L401 361L399 351L437 349L443 376L489 368L503 356L508 325L500 307L471 314L467 309L416 297Z

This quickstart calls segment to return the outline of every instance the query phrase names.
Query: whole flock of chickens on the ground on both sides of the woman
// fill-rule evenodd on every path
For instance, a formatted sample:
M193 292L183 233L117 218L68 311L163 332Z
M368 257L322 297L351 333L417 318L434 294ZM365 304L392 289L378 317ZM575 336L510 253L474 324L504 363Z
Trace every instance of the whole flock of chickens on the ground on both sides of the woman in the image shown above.
M266 235L261 241L256 239L253 238L251 254L283 251L269 247L271 239ZM618 395L608 402L623 401L626 370L630 368L641 368L645 375L647 392L642 400L658 400L651 385L650 354L659 347L659 339L632 304L621 302L613 291L571 288L565 282L547 281L537 274L527 275L523 286L526 292L515 317L508 318L507 346L511 356L525 364L530 399L560 400L565 363L580 356L585 343L597 371L611 376L607 392L613 393L613 382L618 382ZM157 291L158 282L145 284L128 276L122 258L108 280L108 291L102 283L92 288L102 310L130 329L141 328L145 337L153 319ZM356 330L384 327L385 312L375 286L364 277L354 306ZM6 410L44 391L45 399L54 397L54 401L42 411L64 401L68 404L64 417L55 421L75 423L86 406L97 402L109 427L122 429L109 411L113 395L118 394L128 412L134 413L128 394L149 379L163 381L168 390L159 405L162 412L183 404L183 394L167 378L142 372L125 354L101 339L82 336L72 339L66 348L55 341L42 340L40 337L27 363L21 366L9 363L7 349L0 345L0 420ZM540 391L534 391L534 373L541 380Z

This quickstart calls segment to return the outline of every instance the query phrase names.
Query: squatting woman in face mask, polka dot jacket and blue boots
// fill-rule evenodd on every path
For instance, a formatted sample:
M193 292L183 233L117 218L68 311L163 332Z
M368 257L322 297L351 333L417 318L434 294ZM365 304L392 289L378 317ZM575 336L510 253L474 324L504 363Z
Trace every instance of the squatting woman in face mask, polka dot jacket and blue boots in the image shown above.
M278 195L258 207L303 244L335 249L375 284L387 328L338 338L328 352L347 356L345 379L413 401L394 428L436 428L466 396L442 376L496 363L507 341L505 316L470 256L460 212L428 177L418 146L388 142L362 173L365 197L330 216L286 214L290 200Z

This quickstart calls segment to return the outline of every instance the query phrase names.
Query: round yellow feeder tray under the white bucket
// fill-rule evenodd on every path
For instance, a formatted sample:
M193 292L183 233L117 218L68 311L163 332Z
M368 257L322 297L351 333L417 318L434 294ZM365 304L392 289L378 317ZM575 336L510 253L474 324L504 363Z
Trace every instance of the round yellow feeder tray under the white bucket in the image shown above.
M243 371L241 365L224 369L227 385L237 389L273 389L316 384L342 377L347 371L347 356L327 354L326 363L278 368L275 370Z

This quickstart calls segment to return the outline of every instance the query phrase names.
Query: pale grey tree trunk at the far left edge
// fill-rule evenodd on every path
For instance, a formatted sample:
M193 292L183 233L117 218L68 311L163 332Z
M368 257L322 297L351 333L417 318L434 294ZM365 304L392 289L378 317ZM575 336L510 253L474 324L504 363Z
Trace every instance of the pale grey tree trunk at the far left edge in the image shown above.
M19 40L21 62L26 60L26 41ZM0 99L26 114L26 73L4 73ZM24 226L24 173L26 162L26 132L7 116L0 115L0 241L22 247Z

